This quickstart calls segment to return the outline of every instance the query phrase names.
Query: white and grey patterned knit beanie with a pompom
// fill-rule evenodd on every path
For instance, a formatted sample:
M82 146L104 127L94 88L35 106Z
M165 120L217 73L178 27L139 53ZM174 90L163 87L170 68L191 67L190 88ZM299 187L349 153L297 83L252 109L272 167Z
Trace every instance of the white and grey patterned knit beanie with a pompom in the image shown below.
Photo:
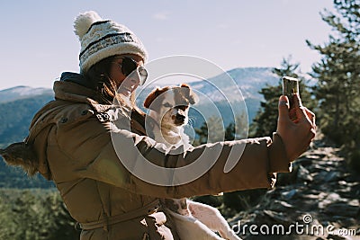
M103 20L94 11L81 13L74 22L75 33L81 44L80 72L86 72L95 63L114 55L136 54L148 58L138 37L126 26Z

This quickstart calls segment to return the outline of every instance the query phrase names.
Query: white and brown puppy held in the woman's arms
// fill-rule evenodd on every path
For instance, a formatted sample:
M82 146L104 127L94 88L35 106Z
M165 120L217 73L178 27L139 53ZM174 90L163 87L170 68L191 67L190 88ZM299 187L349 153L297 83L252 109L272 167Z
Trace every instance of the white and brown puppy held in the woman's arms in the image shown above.
M190 105L198 101L198 96L188 84L157 87L144 101L144 107L149 110L148 116L157 122L150 137L166 147L191 147L184 126L189 120ZM240 239L218 209L186 198L162 199L161 203L166 213L173 217L180 239Z

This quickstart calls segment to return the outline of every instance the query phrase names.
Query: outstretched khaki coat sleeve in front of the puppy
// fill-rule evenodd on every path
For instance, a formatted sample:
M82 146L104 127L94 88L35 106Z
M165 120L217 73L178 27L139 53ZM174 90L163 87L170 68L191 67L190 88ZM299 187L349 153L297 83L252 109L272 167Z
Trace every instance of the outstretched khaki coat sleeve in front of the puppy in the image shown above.
M182 152L125 129L105 127L95 118L65 124L54 132L59 151L71 161L56 174L91 178L159 198L272 188L275 172L289 170L284 144L277 135ZM184 168L186 171L178 172ZM199 169L206 171L197 172Z

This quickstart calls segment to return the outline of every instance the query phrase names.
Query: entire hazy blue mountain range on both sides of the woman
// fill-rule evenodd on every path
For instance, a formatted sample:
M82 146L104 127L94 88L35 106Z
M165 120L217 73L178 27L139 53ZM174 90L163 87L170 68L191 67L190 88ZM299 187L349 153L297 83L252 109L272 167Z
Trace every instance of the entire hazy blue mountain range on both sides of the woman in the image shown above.
M218 112L224 127L247 111L248 122L256 116L263 101L258 93L266 84L279 83L279 77L270 67L235 68L219 76L189 83L199 95L200 102L193 106L193 128L200 128L203 120ZM138 103L154 86L148 86L139 94ZM280 93L279 93L280 94ZM15 86L0 91L0 148L15 141L22 141L28 134L32 116L42 105L54 98L52 89ZM5 166L0 161L0 187L49 187L41 178L22 181L26 178L22 171Z

